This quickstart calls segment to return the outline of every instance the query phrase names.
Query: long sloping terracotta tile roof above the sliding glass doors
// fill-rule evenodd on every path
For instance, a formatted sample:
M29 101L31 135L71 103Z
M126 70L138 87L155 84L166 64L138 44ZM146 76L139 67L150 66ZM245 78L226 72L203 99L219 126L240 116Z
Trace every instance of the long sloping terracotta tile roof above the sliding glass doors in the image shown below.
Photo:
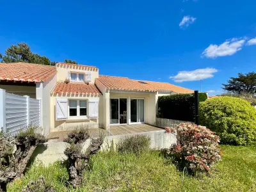
M127 77L99 76L96 81L100 81L110 90L125 90L134 92L176 92L193 93L193 90L176 86L170 83L154 81L133 80Z

